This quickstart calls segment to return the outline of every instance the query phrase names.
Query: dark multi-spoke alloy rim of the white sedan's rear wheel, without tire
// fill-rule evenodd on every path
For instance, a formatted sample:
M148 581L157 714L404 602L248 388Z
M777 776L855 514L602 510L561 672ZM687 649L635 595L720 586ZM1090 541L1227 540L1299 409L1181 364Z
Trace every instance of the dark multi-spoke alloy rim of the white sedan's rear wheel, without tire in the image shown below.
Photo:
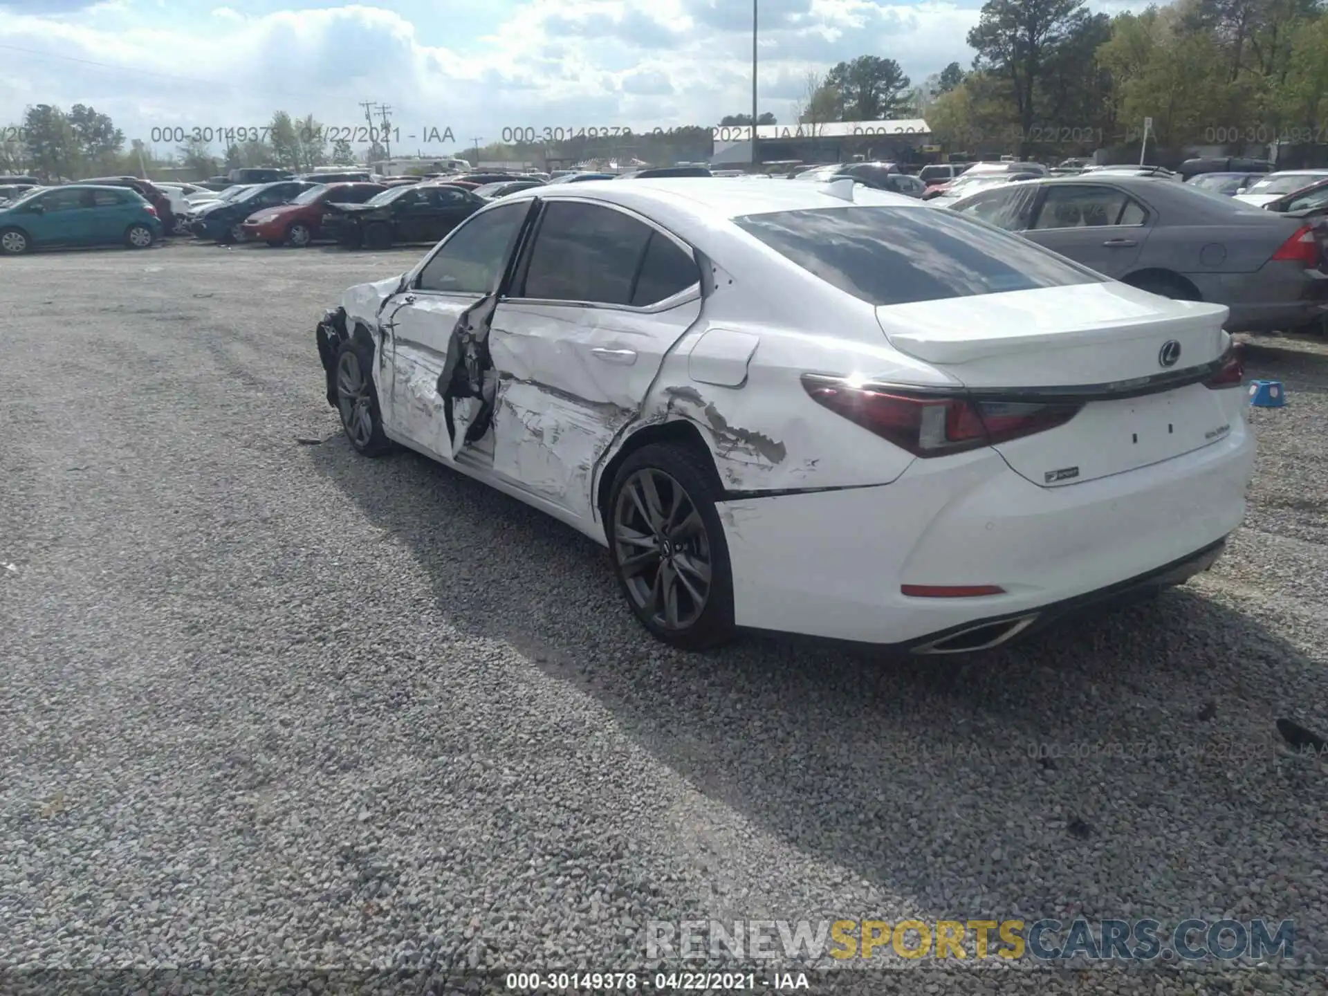
M710 538L695 502L669 474L632 474L614 509L614 555L628 596L655 625L687 629L710 596Z

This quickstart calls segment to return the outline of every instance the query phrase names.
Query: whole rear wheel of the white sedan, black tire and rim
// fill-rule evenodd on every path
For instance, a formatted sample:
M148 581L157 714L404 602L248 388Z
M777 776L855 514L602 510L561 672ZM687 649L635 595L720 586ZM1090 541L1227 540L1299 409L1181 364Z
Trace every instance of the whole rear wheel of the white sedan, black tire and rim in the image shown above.
M683 649L720 647L734 633L733 571L714 507L718 493L708 457L676 444L651 444L623 461L606 509L614 575L627 604L651 635Z

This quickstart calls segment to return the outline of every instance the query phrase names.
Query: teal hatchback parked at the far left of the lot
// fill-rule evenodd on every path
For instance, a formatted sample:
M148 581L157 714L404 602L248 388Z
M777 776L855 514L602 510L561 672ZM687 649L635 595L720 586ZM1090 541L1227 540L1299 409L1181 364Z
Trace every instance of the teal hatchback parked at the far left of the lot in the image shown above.
M58 246L147 248L162 234L157 208L122 186L33 187L0 207L0 252Z

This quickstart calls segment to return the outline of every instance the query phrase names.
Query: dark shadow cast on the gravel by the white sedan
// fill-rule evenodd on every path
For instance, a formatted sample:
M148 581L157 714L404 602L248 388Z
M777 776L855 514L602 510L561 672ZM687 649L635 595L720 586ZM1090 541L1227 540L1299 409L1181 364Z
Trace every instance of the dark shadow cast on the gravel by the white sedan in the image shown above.
M363 459L340 434L301 453L413 552L452 624L875 895L957 918L1296 915L1226 884L1274 874L1323 799L1274 728L1321 663L1254 610L1182 588L972 659L754 636L688 655L637 627L571 529L412 453Z

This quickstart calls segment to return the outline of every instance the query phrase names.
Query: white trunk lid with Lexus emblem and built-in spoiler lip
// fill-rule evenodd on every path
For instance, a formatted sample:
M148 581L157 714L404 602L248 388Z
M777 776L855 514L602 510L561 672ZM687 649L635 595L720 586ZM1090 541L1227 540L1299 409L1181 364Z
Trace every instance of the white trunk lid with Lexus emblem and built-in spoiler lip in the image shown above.
M988 414L1048 401L1056 389L1060 401L1082 396L1065 425L995 446L1041 487L1149 466L1226 437L1228 401L1240 392L1193 378L1227 351L1228 313L1114 282L876 308L894 348L959 381ZM1175 344L1179 356L1163 364L1163 347L1171 359ZM1166 382L1187 376L1189 384ZM1236 400L1243 405L1243 394Z

